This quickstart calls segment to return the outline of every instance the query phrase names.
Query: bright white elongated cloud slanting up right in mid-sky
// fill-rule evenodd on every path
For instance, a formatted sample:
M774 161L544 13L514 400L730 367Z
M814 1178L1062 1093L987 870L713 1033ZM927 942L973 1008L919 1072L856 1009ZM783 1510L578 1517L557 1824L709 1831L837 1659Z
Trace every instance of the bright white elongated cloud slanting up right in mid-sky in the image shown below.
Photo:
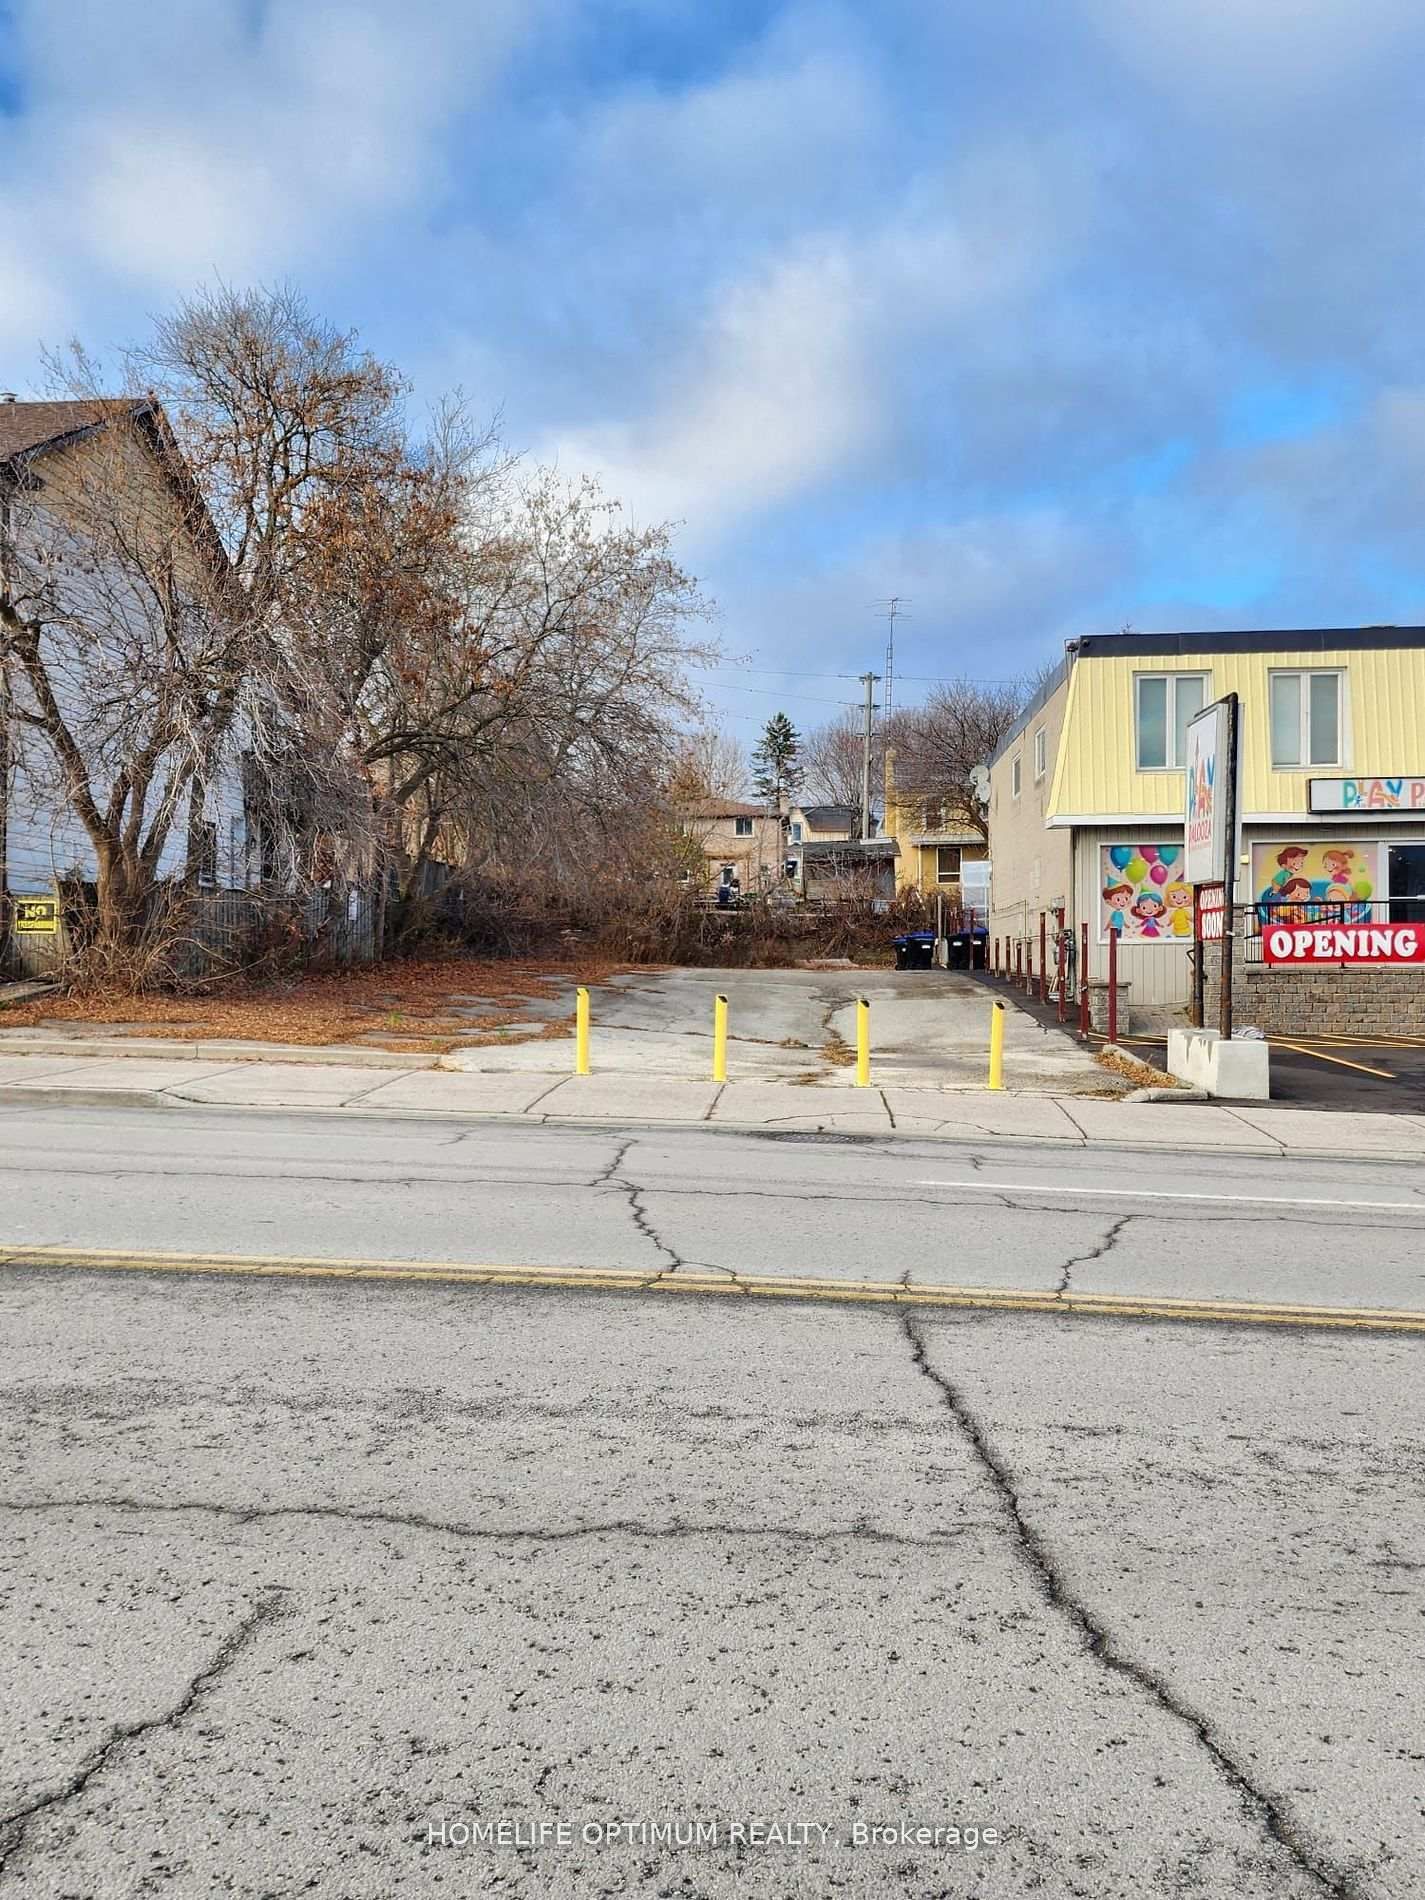
M1081 234L1072 154L992 146L912 179L893 207L792 243L722 291L635 418L551 435L638 519L709 543L840 477L868 477L901 431L908 355L958 338L1037 285ZM885 462L880 473L893 473Z

